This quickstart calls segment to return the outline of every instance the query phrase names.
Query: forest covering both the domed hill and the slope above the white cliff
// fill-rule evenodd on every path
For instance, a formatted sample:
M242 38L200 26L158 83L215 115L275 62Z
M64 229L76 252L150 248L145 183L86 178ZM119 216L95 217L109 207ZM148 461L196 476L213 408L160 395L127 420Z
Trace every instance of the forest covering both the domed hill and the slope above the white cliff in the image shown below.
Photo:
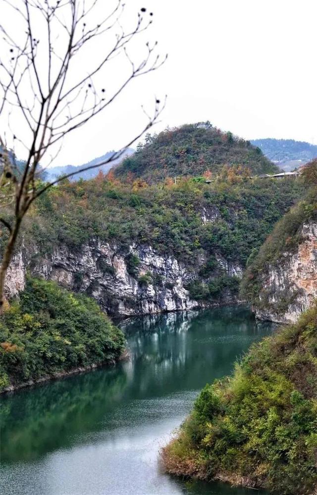
M225 264L244 268L301 197L300 180L250 179L275 171L261 150L210 123L166 130L147 136L106 176L100 171L93 180L65 181L41 196L24 224L24 244L31 251L36 243L45 256L58 245L78 250L99 238L116 245L144 286L151 273L140 275L128 252L131 243L150 245L192 267L193 299L225 299L239 285ZM114 274L112 266L104 268Z

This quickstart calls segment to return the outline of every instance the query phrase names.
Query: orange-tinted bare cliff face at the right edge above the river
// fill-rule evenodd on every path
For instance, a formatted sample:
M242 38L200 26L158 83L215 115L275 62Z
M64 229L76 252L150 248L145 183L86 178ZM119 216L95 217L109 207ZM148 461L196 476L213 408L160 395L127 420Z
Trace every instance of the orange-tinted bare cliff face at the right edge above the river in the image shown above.
M261 319L295 322L312 305L317 298L317 223L303 224L296 251L285 250L262 281L260 304L254 308Z

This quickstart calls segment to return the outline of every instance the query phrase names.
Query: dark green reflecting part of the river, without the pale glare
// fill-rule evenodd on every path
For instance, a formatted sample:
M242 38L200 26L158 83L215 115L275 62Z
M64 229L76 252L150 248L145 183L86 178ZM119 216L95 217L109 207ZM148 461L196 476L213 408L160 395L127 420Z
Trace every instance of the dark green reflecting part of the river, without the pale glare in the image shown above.
M176 410L183 415L199 389L229 373L271 328L242 308L152 315L120 326L130 361L3 397L2 462L36 460L89 442L93 433L103 438L141 425L145 415L153 422Z

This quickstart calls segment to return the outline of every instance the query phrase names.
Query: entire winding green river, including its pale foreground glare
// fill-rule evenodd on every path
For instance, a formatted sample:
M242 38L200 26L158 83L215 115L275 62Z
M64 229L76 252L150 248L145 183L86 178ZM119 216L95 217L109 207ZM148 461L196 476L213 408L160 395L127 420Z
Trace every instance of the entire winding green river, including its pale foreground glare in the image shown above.
M252 490L185 482L158 452L199 390L232 371L270 333L250 311L222 308L126 321L129 362L1 398L0 493L228 494Z

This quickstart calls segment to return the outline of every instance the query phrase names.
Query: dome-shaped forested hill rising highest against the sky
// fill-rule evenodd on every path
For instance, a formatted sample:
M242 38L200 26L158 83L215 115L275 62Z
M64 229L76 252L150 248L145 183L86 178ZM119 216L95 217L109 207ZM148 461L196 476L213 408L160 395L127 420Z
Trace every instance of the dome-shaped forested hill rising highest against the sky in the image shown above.
M249 141L205 122L148 134L136 153L116 167L115 175L124 179L129 174L155 183L166 177L219 173L224 165L242 165L253 175L279 170Z

